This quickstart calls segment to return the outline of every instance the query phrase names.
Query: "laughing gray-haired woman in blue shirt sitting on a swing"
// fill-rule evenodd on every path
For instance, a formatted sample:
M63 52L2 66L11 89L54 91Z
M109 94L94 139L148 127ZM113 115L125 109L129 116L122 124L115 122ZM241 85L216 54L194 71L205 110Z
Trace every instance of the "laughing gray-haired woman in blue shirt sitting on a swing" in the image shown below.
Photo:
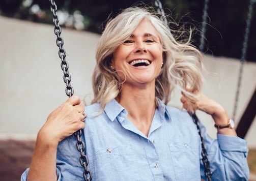
M246 141L232 126L222 128L230 122L225 109L201 94L201 53L178 43L159 18L145 9L124 10L107 23L96 60L87 126L76 96L50 113L22 180L82 180L70 136L79 129L94 180L205 179L200 137L189 115L196 109L211 114L218 127L213 140L200 124L213 180L248 179ZM174 87L183 90L189 113L165 105Z

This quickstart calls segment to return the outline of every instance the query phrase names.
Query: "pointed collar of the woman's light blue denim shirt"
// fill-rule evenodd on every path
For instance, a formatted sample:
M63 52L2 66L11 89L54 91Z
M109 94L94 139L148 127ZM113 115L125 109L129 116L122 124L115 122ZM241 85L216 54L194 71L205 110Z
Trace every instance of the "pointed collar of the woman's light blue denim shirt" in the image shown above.
M159 111L161 119L164 119L165 114L167 114L167 116L170 118L170 114L166 108L166 105L159 98L158 103L159 104L157 109ZM121 112L124 112L125 115L127 115L127 111L115 99L112 99L106 104L104 111L111 120L111 122L113 122Z

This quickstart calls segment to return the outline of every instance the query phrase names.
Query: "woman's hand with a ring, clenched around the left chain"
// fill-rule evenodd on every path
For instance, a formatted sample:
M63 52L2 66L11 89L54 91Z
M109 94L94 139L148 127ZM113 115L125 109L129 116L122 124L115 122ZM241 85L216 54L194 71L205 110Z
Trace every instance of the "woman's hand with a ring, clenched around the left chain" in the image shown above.
M57 146L61 140L85 127L82 120L86 116L83 112L84 106L80 105L80 99L77 96L70 97L49 114L46 123L38 133L38 137Z

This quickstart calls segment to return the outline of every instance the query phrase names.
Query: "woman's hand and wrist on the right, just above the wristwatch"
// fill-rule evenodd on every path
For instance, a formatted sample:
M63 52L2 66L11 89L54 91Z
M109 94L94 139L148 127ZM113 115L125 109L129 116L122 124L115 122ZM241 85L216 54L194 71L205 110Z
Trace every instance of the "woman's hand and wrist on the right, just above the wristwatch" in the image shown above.
M182 95L181 102L183 103L183 107L190 114L193 114L198 109L210 114L217 125L225 125L227 123L229 115L227 115L224 107L217 101L201 94L200 99L192 103L183 92Z

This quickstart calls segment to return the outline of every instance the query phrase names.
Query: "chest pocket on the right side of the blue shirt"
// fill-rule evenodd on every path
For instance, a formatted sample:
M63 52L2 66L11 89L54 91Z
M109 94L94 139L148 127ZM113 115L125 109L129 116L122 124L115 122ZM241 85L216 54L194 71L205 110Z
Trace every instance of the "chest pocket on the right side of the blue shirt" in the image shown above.
M198 148L190 143L168 143L176 180L201 180Z

